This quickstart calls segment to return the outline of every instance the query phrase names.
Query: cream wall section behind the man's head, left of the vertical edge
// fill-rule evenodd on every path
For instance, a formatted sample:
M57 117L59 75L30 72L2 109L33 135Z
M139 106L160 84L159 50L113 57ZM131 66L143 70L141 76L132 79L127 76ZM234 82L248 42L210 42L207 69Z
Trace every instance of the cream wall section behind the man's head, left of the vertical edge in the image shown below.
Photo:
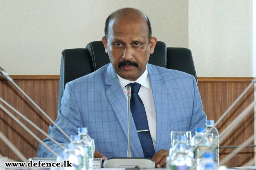
M143 11L167 46L188 48L187 0L0 0L0 66L59 75L61 51L101 40L106 18L122 7Z

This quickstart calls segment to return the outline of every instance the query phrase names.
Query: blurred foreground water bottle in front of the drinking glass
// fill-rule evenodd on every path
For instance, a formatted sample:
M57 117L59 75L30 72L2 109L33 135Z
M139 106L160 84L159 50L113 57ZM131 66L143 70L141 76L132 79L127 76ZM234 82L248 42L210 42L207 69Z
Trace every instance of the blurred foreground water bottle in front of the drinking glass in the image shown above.
M193 162L193 152L187 145L187 137L180 136L171 155L167 157L167 170L189 170Z

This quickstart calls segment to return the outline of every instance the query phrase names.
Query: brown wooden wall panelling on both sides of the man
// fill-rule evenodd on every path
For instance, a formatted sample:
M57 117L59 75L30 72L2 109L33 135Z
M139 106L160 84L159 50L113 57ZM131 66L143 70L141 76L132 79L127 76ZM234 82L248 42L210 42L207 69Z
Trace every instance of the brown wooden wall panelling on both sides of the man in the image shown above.
M24 90L53 120L57 117L59 76L11 76L15 82ZM252 78L198 78L198 88L202 97L204 112L208 120L217 121L226 109L236 100L243 90L250 84ZM246 97L240 101L230 113L217 126L221 133L246 106L254 100L253 88ZM30 103L11 83L0 78L0 97L9 102L17 110L22 112L31 121L48 133L51 124L35 106ZM13 113L13 112L12 112ZM14 113L16 115L16 113ZM17 116L24 124L23 119ZM28 127L45 139L40 132L28 125ZM35 157L39 143L25 132L16 122L0 110L0 131L15 144L15 146L26 156ZM239 145L254 133L253 111L237 126L221 146ZM253 144L253 143L252 143ZM220 149L220 160L234 149ZM0 140L0 153L11 159L19 159L6 144ZM241 166L254 158L254 148L245 148L226 165L228 167Z

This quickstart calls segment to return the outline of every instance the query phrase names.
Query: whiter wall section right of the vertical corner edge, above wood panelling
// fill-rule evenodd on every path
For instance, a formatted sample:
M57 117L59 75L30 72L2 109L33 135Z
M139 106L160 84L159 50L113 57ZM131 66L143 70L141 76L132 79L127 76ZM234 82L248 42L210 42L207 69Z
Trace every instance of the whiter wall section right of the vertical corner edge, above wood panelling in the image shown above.
M250 0L189 1L189 49L199 77L250 77Z

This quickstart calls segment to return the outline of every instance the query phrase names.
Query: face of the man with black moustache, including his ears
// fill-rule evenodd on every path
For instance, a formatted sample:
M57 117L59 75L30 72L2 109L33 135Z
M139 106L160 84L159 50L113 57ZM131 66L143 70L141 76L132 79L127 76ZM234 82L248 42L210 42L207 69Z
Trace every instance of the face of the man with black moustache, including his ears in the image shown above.
M102 41L115 72L131 81L144 73L156 45L155 37L148 40L147 22L141 17L111 20L108 39L103 37Z

